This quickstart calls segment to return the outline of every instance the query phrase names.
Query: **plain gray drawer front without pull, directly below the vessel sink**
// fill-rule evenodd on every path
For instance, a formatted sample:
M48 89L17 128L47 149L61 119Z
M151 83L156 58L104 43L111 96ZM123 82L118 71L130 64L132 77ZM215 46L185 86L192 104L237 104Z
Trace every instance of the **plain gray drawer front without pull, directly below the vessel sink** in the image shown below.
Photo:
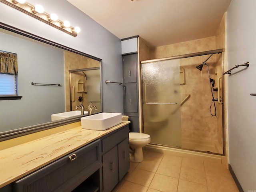
M127 125L120 129L121 130L118 130L118 132L114 132L111 135L108 134L109 136L102 140L103 154L118 145L122 140L129 137L129 128Z

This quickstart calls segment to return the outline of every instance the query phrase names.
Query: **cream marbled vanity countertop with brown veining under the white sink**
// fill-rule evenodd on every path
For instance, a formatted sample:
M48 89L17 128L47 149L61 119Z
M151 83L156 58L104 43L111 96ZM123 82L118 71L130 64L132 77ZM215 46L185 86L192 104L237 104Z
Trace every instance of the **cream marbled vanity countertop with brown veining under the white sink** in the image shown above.
M0 150L0 188L129 123L104 131L78 126Z

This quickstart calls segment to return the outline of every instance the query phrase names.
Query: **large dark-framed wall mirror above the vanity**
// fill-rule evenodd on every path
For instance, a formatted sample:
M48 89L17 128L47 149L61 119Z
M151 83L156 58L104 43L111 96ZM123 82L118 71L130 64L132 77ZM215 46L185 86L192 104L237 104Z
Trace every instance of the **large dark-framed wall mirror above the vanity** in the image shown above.
M85 111L93 102L102 112L102 60L0 23L0 50L17 54L20 100L0 100L0 139L26 129L54 127L81 115L52 121L52 114ZM76 71L77 70L77 71ZM34 84L60 84L32 85Z

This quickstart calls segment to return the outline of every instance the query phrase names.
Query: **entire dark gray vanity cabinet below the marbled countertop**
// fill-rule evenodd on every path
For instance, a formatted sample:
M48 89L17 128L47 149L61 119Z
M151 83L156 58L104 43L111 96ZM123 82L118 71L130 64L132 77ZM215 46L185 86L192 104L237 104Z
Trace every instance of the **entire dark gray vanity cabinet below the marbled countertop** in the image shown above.
M130 168L128 125L0 188L0 192L111 192Z

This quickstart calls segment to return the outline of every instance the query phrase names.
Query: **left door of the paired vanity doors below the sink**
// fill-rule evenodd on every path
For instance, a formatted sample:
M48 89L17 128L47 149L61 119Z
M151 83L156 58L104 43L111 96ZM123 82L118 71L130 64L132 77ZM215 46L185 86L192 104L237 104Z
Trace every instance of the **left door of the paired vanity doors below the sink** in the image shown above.
M118 146L102 156L103 162L103 191L111 192L118 184Z

